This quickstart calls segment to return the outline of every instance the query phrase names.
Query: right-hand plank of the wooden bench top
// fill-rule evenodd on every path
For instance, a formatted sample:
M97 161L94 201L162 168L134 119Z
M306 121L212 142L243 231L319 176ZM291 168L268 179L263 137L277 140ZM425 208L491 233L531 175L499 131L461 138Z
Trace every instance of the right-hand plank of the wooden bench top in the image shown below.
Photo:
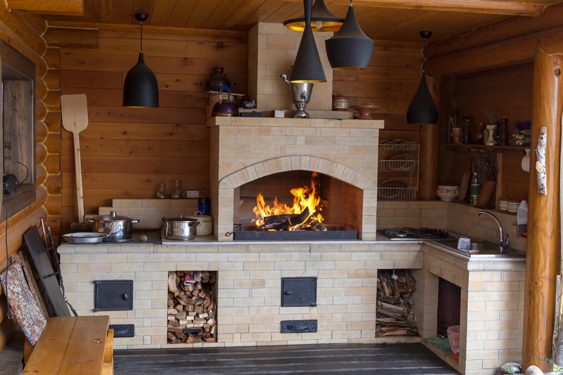
M68 341L59 375L100 375L108 327L108 315L80 317Z

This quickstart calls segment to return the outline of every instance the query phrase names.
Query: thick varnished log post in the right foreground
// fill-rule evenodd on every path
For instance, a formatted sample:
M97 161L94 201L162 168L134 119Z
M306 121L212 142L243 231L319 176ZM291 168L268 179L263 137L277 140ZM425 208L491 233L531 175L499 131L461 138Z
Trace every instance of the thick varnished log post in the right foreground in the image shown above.
M531 121L530 187L528 192L528 242L522 369L536 365L552 371L552 365L537 358L551 357L555 318L557 253L559 250L559 166L561 155L561 109L563 54L548 55L535 51L534 88ZM535 148L540 128L546 128L547 195L538 195ZM536 358L534 358L536 357Z

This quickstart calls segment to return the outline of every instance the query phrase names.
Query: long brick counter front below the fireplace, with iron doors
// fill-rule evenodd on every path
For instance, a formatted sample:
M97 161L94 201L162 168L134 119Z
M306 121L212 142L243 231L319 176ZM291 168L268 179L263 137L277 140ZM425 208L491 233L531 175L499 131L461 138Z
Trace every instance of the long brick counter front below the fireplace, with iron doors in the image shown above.
M217 270L218 342L181 346L379 342L377 269L421 268L419 244L213 243L209 245L61 245L66 296L80 315L135 324L115 348L167 347L167 272ZM318 277L318 306L280 307L280 279ZM93 281L133 279L132 311L93 311ZM279 322L318 319L317 333L279 333ZM402 339L399 341L406 341Z

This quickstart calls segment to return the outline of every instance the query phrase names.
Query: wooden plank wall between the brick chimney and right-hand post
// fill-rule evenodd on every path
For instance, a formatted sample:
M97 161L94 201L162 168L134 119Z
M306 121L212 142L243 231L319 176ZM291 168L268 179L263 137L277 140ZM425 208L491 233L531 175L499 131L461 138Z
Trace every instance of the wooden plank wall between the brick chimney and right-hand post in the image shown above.
M420 125L406 123L406 109L418 88L421 66L420 43L376 40L367 69L333 71L333 94L347 96L350 105L369 102L382 106L372 114L374 119L385 120L385 129L379 132L380 140L400 138L419 144ZM381 151L379 160L395 155L396 151ZM417 184L417 178L416 174L411 179L408 173L381 172L378 182L402 179L410 186Z

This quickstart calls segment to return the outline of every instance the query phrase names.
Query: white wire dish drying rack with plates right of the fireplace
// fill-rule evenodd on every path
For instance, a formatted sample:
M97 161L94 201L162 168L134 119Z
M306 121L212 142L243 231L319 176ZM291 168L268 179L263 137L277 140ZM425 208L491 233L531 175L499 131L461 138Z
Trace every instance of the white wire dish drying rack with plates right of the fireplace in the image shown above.
M378 184L377 198L379 201L414 201L418 192L419 144L379 144L379 151L394 152L389 159L378 161L378 172L385 173L386 180L408 179L406 187L379 187L386 180ZM401 158L401 156L403 156Z

